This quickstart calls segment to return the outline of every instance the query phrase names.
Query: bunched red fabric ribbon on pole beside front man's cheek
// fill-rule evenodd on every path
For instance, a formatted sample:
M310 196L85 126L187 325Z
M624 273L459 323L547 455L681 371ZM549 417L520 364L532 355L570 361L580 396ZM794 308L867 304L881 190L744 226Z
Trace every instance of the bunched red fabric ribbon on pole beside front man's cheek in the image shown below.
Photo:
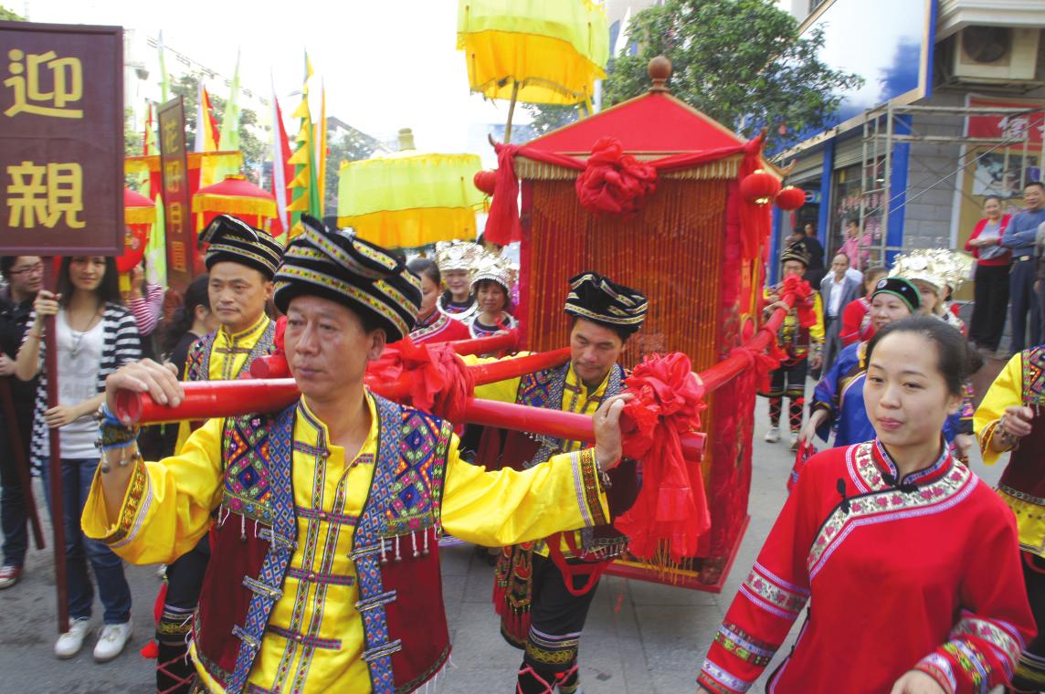
M474 390L468 367L445 343L415 345L401 340L387 348L367 370L367 377L381 383L400 381L410 389L403 404L431 412L443 419L461 421Z

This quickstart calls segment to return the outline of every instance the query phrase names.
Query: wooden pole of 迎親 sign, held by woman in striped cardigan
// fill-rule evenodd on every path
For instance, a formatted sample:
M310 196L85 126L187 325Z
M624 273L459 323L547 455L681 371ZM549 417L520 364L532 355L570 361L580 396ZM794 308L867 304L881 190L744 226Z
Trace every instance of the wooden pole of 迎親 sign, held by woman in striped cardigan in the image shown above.
M57 287L54 258L44 259L44 286L52 292ZM47 407L59 402L59 345L55 339L56 316L44 319L44 374L47 376ZM48 430L51 454L47 461L51 488L51 530L54 548L54 587L59 599L59 633L69 630L69 581L65 556L65 500L62 495L62 435L57 429ZM70 509L75 513L76 509ZM78 518L77 518L77 525Z

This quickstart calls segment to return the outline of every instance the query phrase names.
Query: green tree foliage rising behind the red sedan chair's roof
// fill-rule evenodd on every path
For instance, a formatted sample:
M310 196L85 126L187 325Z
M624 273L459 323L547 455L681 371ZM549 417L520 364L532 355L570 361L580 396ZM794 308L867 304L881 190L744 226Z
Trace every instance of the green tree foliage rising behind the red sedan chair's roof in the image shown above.
M666 0L635 14L628 37L638 52L612 61L604 103L645 92L647 65L663 54L675 96L747 137L763 125L818 129L837 112L839 90L863 84L821 62L822 32L799 36L770 0Z

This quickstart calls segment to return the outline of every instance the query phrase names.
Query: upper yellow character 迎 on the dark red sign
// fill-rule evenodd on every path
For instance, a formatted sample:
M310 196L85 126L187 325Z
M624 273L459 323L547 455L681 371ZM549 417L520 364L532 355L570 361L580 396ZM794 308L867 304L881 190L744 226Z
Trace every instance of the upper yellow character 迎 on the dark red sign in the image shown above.
M7 51L4 87L14 90L14 102L5 116L29 113L54 118L83 118L83 109L68 108L84 97L84 66L78 57L59 57L53 50L28 53L19 48ZM50 70L50 78L44 69ZM41 73L44 73L43 77ZM45 85L50 89L45 91Z

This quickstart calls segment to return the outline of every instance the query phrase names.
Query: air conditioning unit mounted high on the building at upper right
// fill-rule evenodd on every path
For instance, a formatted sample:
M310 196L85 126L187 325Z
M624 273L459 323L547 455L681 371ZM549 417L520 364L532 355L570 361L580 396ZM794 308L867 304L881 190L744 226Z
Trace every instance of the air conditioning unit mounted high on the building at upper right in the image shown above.
M957 36L954 76L963 82L1021 82L1035 78L1041 30L967 26Z

